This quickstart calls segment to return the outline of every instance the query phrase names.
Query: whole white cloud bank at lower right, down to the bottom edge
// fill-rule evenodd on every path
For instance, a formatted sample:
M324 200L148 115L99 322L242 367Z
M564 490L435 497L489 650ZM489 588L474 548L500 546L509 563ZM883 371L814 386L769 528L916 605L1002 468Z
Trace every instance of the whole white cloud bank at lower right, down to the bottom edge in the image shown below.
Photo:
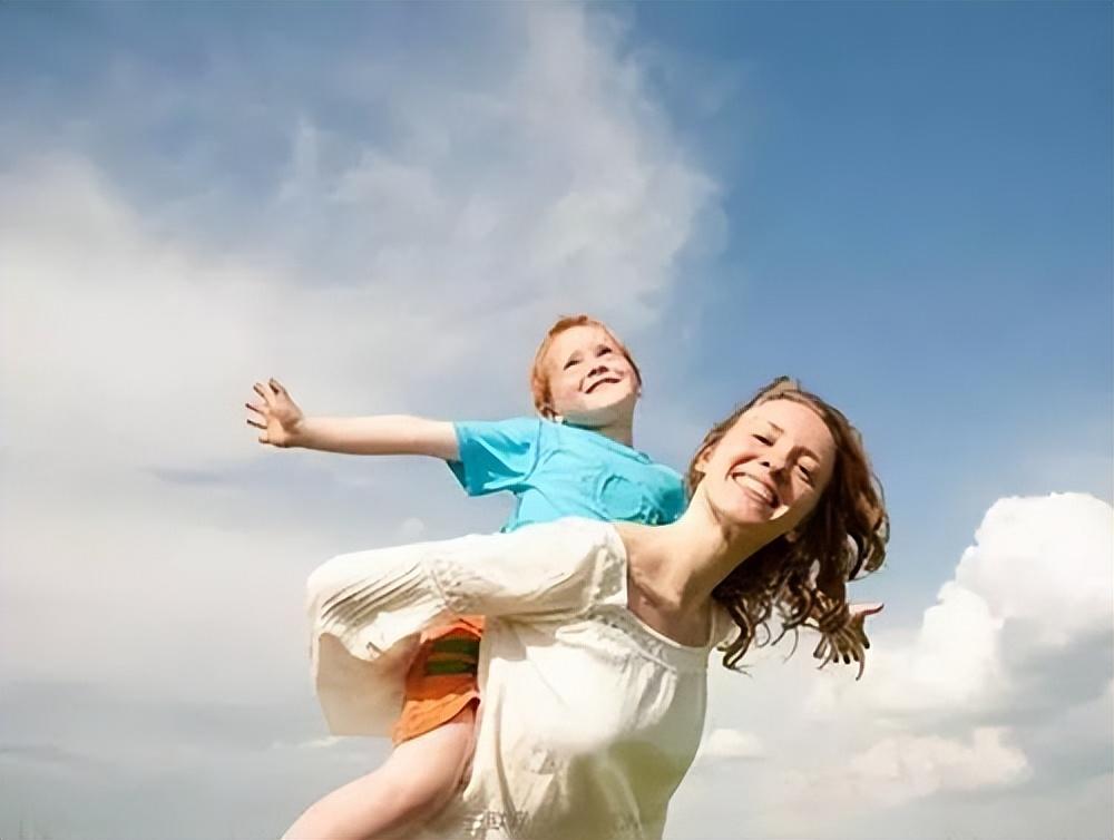
M1089 496L1000 499L937 603L871 629L861 682L818 673L807 638L788 663L749 657L750 680L714 668L710 719L760 733L764 758L704 760L671 837L735 824L736 791L747 837L1036 840L1063 833L1062 803L1079 836L1108 834L1112 526Z

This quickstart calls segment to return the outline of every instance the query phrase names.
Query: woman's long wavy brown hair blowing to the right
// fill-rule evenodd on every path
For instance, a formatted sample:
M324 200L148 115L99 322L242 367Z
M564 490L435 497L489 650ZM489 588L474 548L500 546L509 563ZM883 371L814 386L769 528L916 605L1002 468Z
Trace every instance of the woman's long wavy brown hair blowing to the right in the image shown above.
M739 662L754 644L775 644L786 632L812 627L821 635L814 655L821 667L842 658L859 663L859 674L869 646L861 621L847 606L847 583L878 569L886 559L889 517L882 488L870 467L862 440L848 419L824 400L781 377L712 427L688 465L690 496L704 473L696 463L750 409L771 400L791 400L808 406L824 421L836 442L831 479L817 507L798 527L797 536L779 537L740 563L715 587L720 602L739 625L740 633L726 644L723 664L739 670ZM778 613L776 637L770 619ZM759 639L759 632L764 634ZM795 649L795 642L794 642Z

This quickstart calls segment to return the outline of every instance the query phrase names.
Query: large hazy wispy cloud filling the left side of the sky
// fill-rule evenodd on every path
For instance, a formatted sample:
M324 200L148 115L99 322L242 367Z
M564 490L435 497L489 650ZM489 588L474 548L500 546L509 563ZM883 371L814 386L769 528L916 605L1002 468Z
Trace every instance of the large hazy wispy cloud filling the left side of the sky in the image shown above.
M62 834L258 837L370 768L385 745L309 749L305 574L497 521L443 467L261 450L254 379L316 412L526 411L548 322L656 324L717 202L606 10L477 7L473 37L404 61L374 27L274 32L248 57L173 13L188 71L144 38L90 46L91 81L58 91L70 118L19 99L55 130L3 144L0 634L27 643L0 654L2 734L36 752L9 756L0 812ZM282 778L275 743L306 746L277 751ZM102 758L97 785L46 784L69 750ZM229 772L234 797L183 782ZM120 820L105 803L129 785Z

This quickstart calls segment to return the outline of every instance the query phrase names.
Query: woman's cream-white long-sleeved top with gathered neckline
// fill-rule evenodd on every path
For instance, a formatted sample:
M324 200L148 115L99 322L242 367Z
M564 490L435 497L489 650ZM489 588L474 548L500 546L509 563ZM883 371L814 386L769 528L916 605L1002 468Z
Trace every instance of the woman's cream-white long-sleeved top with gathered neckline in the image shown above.
M343 555L310 578L313 673L335 734L382 735L423 628L488 617L471 779L421 838L651 840L700 743L713 647L627 609L610 525L563 519Z

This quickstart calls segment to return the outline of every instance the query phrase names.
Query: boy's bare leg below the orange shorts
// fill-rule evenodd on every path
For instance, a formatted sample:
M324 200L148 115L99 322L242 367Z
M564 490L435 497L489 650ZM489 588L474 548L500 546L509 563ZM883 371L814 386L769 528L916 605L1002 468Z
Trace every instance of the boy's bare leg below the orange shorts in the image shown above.
M383 765L312 804L284 840L385 840L444 807L471 754L475 711L399 744Z

